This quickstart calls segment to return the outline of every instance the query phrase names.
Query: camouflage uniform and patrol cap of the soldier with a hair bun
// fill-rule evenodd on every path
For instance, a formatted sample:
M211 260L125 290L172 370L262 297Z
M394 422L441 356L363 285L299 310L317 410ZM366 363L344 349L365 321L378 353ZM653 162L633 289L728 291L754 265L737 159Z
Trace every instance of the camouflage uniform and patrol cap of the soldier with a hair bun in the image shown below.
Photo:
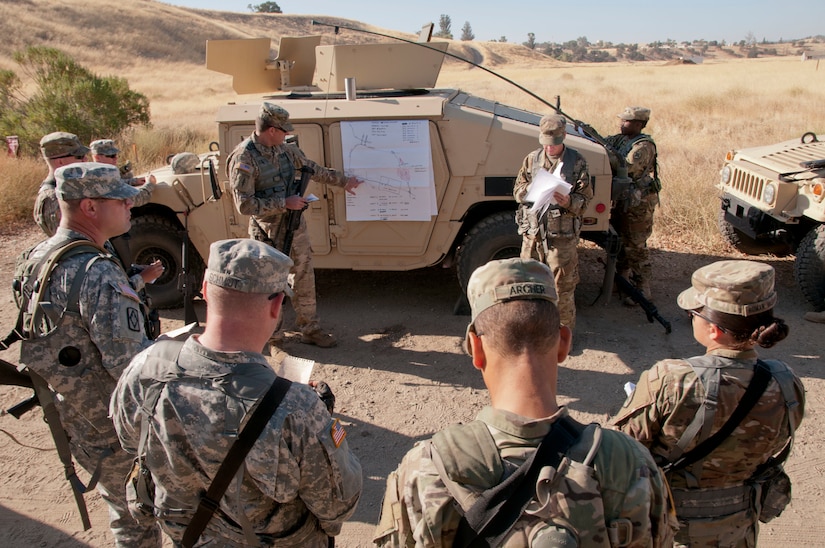
M764 312L775 302L773 269L753 261L719 261L697 270L692 287L678 299L679 306L686 310L704 306L738 315ZM704 358L691 358L694 365L718 370L720 375L713 420L702 424L700 435L684 447L679 447L682 434L704 407L708 393L686 360L663 360L643 372L611 425L639 440L660 465L672 462L674 456L689 452L727 422L754 375L756 360L753 349L729 348L716 348ZM754 505L758 497L749 480L793 434L788 413L792 413L794 425L799 425L804 413L802 381L790 373L799 405L788 410L774 378L757 405L707 457L668 474L681 525L676 535L678 544L756 545L759 516ZM697 502L697 497L703 502ZM714 502L708 503L707 498Z

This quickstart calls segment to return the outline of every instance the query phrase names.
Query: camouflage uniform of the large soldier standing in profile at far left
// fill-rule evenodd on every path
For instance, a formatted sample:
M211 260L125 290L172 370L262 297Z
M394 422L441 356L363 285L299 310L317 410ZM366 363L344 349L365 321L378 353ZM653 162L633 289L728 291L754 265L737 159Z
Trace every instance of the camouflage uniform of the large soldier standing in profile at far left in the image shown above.
M57 242L88 240L83 234L58 228L30 254L35 263ZM90 242L91 244L91 242ZM160 546L154 523L139 524L126 506L123 480L132 457L124 452L108 416L109 397L129 359L151 344L143 331L140 302L126 274L110 256L85 267L92 253L67 257L52 271L42 302L61 311L69 304L72 283L83 276L78 310L67 310L48 335L24 340L20 362L40 374L55 392L55 406L77 462L90 474L100 466L98 491L109 505L109 519L118 546ZM79 313L78 313L79 312Z

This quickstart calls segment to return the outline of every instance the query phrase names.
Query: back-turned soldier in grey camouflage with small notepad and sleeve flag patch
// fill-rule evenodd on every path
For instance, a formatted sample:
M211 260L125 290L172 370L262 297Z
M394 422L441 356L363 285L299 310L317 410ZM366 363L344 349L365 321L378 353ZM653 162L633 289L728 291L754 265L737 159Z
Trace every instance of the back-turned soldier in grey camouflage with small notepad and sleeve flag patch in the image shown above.
M157 342L136 356L112 396L120 441L145 455L155 485L148 505L175 545L276 379L260 350L292 293L291 267L289 257L262 242L213 243L203 282L204 333L182 345ZM318 394L298 383L240 469L200 537L204 545L326 548L362 489L361 465L343 427Z

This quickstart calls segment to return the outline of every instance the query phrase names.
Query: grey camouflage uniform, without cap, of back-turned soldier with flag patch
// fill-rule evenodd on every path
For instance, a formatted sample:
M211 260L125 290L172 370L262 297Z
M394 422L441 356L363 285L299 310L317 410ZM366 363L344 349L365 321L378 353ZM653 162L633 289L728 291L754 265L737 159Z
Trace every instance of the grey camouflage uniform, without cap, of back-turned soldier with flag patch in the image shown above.
M199 493L209 487L275 373L261 354L213 351L197 337L184 343L177 364L142 352L121 377L111 404L120 441L131 453L138 449L146 388L158 378L172 380L150 419L146 462L156 516L179 543ZM262 545L326 548L328 535L340 532L362 489L361 465L346 438L337 437L338 426L312 388L293 383L201 542L246 546L237 524L247 522L262 535Z

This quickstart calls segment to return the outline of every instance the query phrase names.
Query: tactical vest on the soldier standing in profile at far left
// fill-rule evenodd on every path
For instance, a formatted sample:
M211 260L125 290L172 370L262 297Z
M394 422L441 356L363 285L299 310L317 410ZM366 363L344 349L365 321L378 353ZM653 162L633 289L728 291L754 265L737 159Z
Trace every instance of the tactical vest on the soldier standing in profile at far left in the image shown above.
M44 300L49 288L49 277L62 261L76 255L85 257L70 286L65 308ZM111 254L88 240L58 242L39 260L20 261L16 270L15 287L21 306L22 348L20 361L39 374L58 393L82 390L84 398L59 398L61 414L82 418L97 435L89 432L87 440L96 445L119 448L112 421L108 416L108 402L116 379L103 367L100 352L89 338L89 332L80 316L80 288L86 273L100 260L117 263ZM82 388L79 388L82 386ZM100 405L89 405L99 402Z

